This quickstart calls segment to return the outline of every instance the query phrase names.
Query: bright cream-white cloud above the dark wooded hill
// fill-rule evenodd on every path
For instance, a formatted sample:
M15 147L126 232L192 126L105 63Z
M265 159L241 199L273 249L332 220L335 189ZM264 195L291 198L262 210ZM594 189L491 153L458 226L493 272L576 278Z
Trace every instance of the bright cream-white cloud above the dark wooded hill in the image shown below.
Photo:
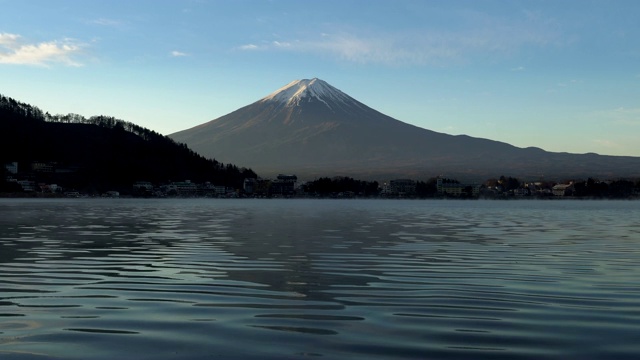
M0 64L82 66L74 59L83 45L70 39L35 44L21 41L20 35L0 33Z

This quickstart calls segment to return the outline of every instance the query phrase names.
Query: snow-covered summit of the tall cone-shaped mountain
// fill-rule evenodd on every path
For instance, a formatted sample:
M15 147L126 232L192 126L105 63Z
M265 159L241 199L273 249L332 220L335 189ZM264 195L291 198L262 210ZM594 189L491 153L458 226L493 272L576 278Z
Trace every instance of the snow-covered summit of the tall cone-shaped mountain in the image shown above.
M330 103L352 103L354 100L347 94L318 78L295 80L281 87L260 101L276 101L287 107L300 105L304 100L316 99L331 109Z

